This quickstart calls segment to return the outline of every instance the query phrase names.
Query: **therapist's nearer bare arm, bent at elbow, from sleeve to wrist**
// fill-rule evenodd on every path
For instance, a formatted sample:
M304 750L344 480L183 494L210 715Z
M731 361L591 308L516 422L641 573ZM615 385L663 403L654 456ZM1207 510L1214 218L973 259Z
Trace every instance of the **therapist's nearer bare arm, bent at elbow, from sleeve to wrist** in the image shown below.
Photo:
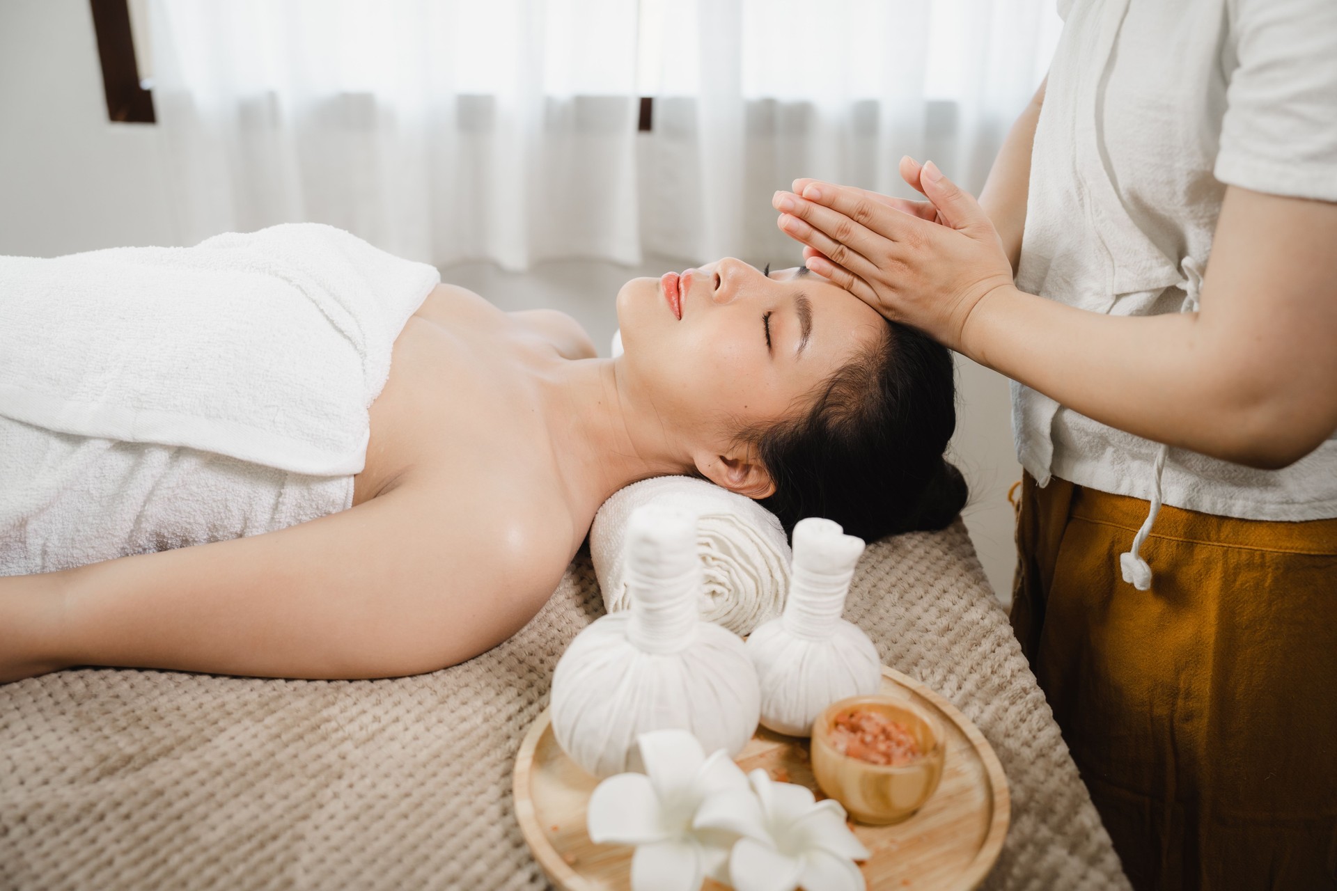
M1337 204L1229 187L1191 314L991 293L963 351L1102 423L1255 468L1337 429Z

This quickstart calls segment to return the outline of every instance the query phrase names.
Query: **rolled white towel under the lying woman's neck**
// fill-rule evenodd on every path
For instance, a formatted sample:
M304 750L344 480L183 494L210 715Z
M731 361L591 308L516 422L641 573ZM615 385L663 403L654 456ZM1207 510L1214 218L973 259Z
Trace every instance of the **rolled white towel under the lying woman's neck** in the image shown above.
M630 606L623 542L631 512L644 504L698 516L697 553L705 586L701 617L737 635L779 616L789 590L790 550L775 514L746 496L694 477L655 477L612 493L590 530L590 554L610 613Z

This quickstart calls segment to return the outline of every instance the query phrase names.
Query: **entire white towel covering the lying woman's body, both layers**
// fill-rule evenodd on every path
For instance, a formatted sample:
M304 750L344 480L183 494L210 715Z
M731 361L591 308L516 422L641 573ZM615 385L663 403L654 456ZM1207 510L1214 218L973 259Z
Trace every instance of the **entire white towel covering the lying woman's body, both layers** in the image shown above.
M436 269L329 226L0 258L0 574L352 504Z

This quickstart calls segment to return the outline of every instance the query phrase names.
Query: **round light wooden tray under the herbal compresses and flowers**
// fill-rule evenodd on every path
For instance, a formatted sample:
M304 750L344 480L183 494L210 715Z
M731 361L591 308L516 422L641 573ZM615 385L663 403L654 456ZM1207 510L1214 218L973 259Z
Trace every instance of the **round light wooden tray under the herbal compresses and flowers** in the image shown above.
M869 888L975 888L1003 848L1011 801L1007 777L988 741L945 699L912 677L882 667L882 692L937 713L947 733L943 781L933 797L896 826L854 823L873 856L861 863ZM809 741L757 728L734 759L743 771L765 768L825 797L813 780ZM626 891L632 848L595 844L586 832L586 804L599 780L558 747L548 712L533 721L515 759L515 814L533 858L563 891ZM706 879L705 888L722 888Z

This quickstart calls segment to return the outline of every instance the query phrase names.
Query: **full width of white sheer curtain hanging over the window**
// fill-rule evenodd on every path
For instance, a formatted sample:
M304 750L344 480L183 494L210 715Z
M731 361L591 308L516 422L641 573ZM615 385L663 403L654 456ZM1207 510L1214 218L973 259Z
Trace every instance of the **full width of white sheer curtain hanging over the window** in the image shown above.
M770 195L977 188L1052 0L150 0L178 238L289 220L447 264L793 259ZM655 96L650 134L638 96Z

